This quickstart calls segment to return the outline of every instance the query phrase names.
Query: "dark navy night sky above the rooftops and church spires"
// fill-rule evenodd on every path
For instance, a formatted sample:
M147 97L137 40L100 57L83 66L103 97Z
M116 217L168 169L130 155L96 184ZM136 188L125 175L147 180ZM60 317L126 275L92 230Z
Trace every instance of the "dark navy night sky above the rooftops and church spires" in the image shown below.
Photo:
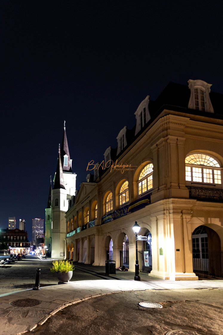
M76 187L138 105L189 79L223 93L221 1L0 1L0 228L44 218L64 120Z

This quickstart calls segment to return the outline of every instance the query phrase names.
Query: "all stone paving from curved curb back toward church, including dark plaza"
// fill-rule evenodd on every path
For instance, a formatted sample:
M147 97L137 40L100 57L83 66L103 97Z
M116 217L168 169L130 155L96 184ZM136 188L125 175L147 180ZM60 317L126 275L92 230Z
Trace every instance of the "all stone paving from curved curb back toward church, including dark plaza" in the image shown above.
M121 280L110 279L94 279L77 280L75 271L72 281L67 284L58 285L55 274L51 274L49 267L52 260L39 260L36 256L28 256L25 260L13 264L8 269L0 268L0 288L7 286L8 292L0 295L0 335L16 335L34 330L37 325L40 326L46 322L52 315L63 310L64 308L73 304L84 302L94 297L102 297L107 294L126 292L126 291L147 291L147 290L179 290L179 289L222 289L223 280L197 280L197 281L170 281L158 278L149 277L146 274L140 273L141 281L134 281L134 272L116 271L114 278ZM39 265L40 264L40 265ZM80 264L81 265L81 264ZM105 267L93 267L90 265L82 265L86 269L93 269L94 271L104 273ZM43 269L40 275L40 290L22 289L20 291L9 291L10 285L14 287L17 282L22 285L24 281L31 284L35 282L35 277L28 275L29 270L40 267ZM16 271L17 268L17 271ZM21 275L21 270L23 276ZM10 278L10 273L7 271L14 271L13 278ZM20 273L20 276L17 276ZM92 276L85 273L84 276ZM51 276L51 277L50 277ZM52 279L51 279L52 278ZM83 278L83 274L82 274ZM86 278L86 277L85 277ZM2 284L2 280L5 281ZM11 284L9 283L11 282ZM19 286L19 285L17 285ZM16 288L12 288L15 290ZM220 291L219 291L220 292ZM222 292L222 291L221 291ZM219 293L220 294L220 293ZM17 307L12 305L15 300L20 299L35 299L38 300L38 305L27 306L30 300L24 300L25 307Z

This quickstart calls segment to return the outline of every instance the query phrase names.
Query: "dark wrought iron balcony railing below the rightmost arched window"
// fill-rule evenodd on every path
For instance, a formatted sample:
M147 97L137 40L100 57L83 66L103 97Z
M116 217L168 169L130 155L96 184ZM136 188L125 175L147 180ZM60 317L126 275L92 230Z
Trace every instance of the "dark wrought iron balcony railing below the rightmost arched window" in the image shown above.
M206 187L187 186L189 198L201 201L223 202L223 190Z

